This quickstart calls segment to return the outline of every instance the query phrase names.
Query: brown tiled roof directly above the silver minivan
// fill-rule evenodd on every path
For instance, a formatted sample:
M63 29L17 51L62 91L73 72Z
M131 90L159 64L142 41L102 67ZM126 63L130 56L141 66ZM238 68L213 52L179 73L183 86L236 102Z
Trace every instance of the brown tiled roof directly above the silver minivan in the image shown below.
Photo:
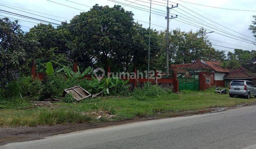
M256 75L241 66L239 68L230 70L230 73L223 78L256 78Z

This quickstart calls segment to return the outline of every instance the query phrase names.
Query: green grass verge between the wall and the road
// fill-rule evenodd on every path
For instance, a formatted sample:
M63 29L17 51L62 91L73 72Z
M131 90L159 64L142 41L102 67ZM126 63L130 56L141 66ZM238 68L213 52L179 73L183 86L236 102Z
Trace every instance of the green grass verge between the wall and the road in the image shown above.
M0 110L0 126L38 126L75 123L100 123L121 121L130 118L158 116L158 112L205 109L209 107L234 106L254 103L256 98L230 98L228 94L183 91L157 97L131 96L85 99L77 104L55 103L50 107L35 107L24 104L20 110ZM95 113L105 111L111 117L98 117ZM106 114L105 114L106 115Z

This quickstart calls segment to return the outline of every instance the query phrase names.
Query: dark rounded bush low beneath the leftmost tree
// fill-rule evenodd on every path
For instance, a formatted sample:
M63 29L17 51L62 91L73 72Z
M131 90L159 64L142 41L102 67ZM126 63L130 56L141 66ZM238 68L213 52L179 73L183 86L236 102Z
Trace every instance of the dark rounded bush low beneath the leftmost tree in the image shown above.
M21 92L21 86L18 81L13 80L7 84L5 96L12 97L12 96L19 96Z

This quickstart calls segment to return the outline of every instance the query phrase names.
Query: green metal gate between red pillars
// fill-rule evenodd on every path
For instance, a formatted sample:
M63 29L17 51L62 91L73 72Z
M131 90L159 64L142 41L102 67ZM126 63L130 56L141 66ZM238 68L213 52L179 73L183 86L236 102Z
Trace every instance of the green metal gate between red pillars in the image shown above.
M198 78L177 78L179 81L179 90L199 90Z

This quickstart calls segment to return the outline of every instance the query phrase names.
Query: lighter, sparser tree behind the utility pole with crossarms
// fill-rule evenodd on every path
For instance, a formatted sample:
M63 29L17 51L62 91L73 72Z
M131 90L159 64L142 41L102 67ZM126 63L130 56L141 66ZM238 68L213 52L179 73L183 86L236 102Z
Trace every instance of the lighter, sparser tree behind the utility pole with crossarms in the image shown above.
M209 40L207 39L206 31L200 29L197 32L182 32L176 29L170 33L170 63L186 64L195 61L196 59L210 61L224 61L226 58L224 51L216 51ZM165 66L165 47L166 47L166 32L159 34L161 40L160 53L158 54L158 67Z

